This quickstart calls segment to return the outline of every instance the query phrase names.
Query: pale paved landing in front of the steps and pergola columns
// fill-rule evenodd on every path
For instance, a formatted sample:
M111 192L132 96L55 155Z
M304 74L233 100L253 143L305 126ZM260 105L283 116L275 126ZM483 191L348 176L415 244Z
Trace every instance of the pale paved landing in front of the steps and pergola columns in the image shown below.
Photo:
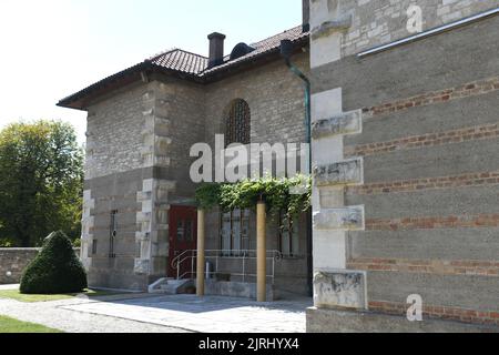
M305 333L309 306L310 298L261 304L234 297L161 295L63 308L201 333Z

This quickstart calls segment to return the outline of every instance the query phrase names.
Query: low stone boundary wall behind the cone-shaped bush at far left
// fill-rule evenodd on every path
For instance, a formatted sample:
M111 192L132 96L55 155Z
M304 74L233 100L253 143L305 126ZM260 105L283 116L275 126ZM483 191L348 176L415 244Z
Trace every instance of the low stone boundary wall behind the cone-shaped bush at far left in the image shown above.
M0 247L0 285L18 284L22 272L38 255L35 247ZM77 254L80 253L75 248Z

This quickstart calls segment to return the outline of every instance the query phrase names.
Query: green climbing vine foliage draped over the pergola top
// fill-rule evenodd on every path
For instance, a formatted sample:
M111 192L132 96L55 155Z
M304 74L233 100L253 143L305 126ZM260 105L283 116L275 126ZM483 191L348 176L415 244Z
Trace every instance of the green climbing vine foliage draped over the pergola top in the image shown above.
M294 187L306 186L305 193L292 194ZM259 199L265 199L272 215L284 211L295 216L310 207L312 179L297 175L291 179L261 178L244 180L235 184L202 184L196 190L197 205L203 210L220 206L224 211L254 209Z

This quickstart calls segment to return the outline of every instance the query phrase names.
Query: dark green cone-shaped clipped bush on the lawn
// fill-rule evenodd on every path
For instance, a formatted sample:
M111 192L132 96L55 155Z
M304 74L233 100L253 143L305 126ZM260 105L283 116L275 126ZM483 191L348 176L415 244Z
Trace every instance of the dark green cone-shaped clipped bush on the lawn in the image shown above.
M86 272L63 232L50 234L21 277L22 294L78 293L88 287Z

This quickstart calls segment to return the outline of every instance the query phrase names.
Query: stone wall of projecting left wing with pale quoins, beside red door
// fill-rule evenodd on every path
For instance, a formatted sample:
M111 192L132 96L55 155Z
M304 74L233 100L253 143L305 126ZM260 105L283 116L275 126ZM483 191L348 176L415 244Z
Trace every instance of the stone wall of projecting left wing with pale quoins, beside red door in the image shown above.
M165 275L170 206L194 194L189 153L204 139L203 99L200 85L165 77L90 106L82 257L91 285L145 290Z

